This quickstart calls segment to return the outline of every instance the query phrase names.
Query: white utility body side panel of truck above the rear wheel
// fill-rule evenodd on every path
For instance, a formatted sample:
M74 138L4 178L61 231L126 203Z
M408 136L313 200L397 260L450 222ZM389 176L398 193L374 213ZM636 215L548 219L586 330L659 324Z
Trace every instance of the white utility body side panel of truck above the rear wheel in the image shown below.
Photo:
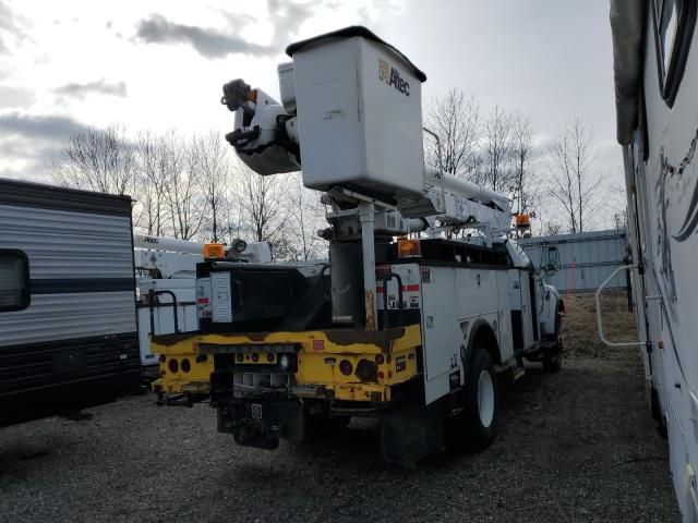
M524 325L529 326L530 341L522 350L535 348L528 305L530 294L526 290L522 303L519 288L513 284L525 281L528 285L528 270L441 267L428 263L381 266L378 270L388 268L401 278L405 311L421 312L426 404L447 394L454 384L466 382L464 356L470 337L483 321L497 339L500 362L507 363L515 355L512 311L521 311ZM398 308L397 285L397 280L392 279L386 287L389 309ZM377 307L383 311L382 283L377 291ZM452 378L454 374L457 378Z

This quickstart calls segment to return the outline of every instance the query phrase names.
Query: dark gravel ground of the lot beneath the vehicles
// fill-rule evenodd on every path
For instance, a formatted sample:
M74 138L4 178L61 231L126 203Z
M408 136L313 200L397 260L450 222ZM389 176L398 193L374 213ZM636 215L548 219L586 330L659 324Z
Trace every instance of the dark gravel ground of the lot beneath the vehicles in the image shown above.
M484 451L395 470L357 421L332 441L246 449L207 405L144 394L0 429L0 521L678 521L638 353L595 341L591 301L568 300L562 372L531 365L504 388ZM610 300L609 332L633 333L624 306Z

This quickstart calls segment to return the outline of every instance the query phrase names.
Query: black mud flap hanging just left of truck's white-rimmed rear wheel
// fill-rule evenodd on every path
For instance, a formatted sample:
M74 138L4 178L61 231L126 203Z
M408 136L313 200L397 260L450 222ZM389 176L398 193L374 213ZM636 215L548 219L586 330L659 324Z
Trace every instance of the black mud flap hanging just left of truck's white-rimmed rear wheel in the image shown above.
M444 450L446 441L441 405L402 405L383 414L381 453L387 463L413 467L422 458Z

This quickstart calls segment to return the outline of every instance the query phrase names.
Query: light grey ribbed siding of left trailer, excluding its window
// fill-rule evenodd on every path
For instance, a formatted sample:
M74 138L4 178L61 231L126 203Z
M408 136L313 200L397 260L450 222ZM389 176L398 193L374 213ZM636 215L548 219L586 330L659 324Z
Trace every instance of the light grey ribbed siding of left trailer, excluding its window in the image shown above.
M100 292L99 281L134 279L128 217L0 205L0 247L27 255L31 304L0 314L0 346L135 332L135 288ZM95 284L89 287L89 281Z

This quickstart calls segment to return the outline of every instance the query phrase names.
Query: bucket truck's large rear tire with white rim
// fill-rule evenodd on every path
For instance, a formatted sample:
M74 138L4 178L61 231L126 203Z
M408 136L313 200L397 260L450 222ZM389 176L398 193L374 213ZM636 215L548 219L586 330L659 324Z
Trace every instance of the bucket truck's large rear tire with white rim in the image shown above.
M481 379L485 382L481 384ZM476 449L489 447L497 435L497 398L494 362L488 351L476 348L470 358L464 411L466 436Z

